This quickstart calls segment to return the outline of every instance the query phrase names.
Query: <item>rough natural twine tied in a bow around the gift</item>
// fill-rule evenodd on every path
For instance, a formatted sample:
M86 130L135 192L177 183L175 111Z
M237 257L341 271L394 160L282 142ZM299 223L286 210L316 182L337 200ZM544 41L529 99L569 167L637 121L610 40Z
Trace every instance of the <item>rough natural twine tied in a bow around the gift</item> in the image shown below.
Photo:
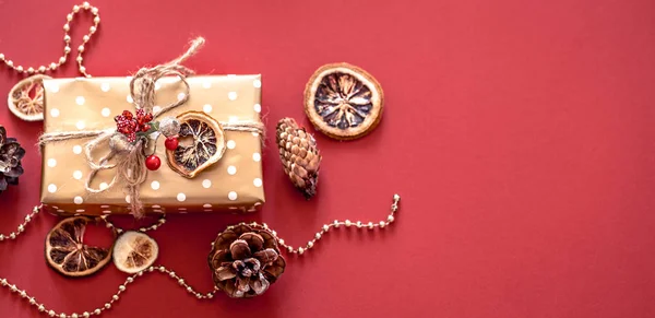
M204 44L204 38L199 37L191 43L190 48L180 57L153 68L140 69L130 81L130 95L134 101L136 109L143 109L146 114L153 114L153 120L168 110L171 110L189 101L189 83L186 79L194 72L181 63L189 57L194 55ZM160 109L154 110L155 106L155 83L164 76L177 76L183 84L183 96L177 102L164 106ZM249 131L258 132L263 136L264 126L257 121L238 121L238 122L219 122L224 130L228 131ZM141 185L147 179L147 168L145 167L145 148L147 145L147 137L142 137L135 141L132 146L127 150L109 148L109 153L102 156L99 160L93 157L93 151L102 143L109 141L114 136L121 134L116 128L105 130L82 130L82 131L58 131L47 132L39 137L38 144L40 146L66 140L94 138L84 145L84 154L86 163L91 169L88 177L84 184L87 192L100 193L111 189L116 184L124 184L129 196L130 209L134 217L143 217L143 204L140 198ZM116 163L109 163L110 160L117 157ZM98 172L116 168L111 182L107 187L94 189L91 184Z

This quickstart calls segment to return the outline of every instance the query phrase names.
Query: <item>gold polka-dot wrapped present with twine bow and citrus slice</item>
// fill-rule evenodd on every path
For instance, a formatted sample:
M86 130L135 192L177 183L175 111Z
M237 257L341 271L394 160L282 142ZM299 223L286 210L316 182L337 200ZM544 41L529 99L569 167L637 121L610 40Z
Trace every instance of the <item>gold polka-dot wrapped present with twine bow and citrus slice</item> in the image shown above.
M261 76L190 75L182 60L133 78L44 81L44 208L141 216L252 212L264 203ZM154 127L132 141L117 116L136 109L152 113ZM163 136L171 121L181 125L175 151ZM145 168L150 155L160 158L158 169Z

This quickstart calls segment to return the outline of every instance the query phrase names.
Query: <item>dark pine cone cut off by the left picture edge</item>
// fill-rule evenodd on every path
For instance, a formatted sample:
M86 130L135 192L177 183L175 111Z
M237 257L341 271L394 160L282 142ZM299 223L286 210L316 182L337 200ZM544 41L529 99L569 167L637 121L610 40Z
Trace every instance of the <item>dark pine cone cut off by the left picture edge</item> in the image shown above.
M7 130L0 126L0 193L9 185L19 184L19 177L23 174L23 156L25 150L15 138L7 138Z

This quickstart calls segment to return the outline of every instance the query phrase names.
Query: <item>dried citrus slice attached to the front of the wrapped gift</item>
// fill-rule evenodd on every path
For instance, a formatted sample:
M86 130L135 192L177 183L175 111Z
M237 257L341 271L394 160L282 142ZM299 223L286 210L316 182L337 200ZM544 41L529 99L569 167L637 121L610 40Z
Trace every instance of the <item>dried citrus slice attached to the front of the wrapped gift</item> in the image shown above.
M223 157L225 132L218 121L201 111L187 111L177 119L179 145L166 151L167 162L178 174L193 178Z

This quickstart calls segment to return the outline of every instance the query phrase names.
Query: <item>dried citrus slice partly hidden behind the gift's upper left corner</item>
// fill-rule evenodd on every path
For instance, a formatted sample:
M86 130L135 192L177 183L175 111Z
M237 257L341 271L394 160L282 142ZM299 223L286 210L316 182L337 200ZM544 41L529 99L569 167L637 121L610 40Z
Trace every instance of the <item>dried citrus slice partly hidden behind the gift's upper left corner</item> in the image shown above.
M44 120L44 79L50 76L33 75L11 89L7 101L11 113L26 121Z

